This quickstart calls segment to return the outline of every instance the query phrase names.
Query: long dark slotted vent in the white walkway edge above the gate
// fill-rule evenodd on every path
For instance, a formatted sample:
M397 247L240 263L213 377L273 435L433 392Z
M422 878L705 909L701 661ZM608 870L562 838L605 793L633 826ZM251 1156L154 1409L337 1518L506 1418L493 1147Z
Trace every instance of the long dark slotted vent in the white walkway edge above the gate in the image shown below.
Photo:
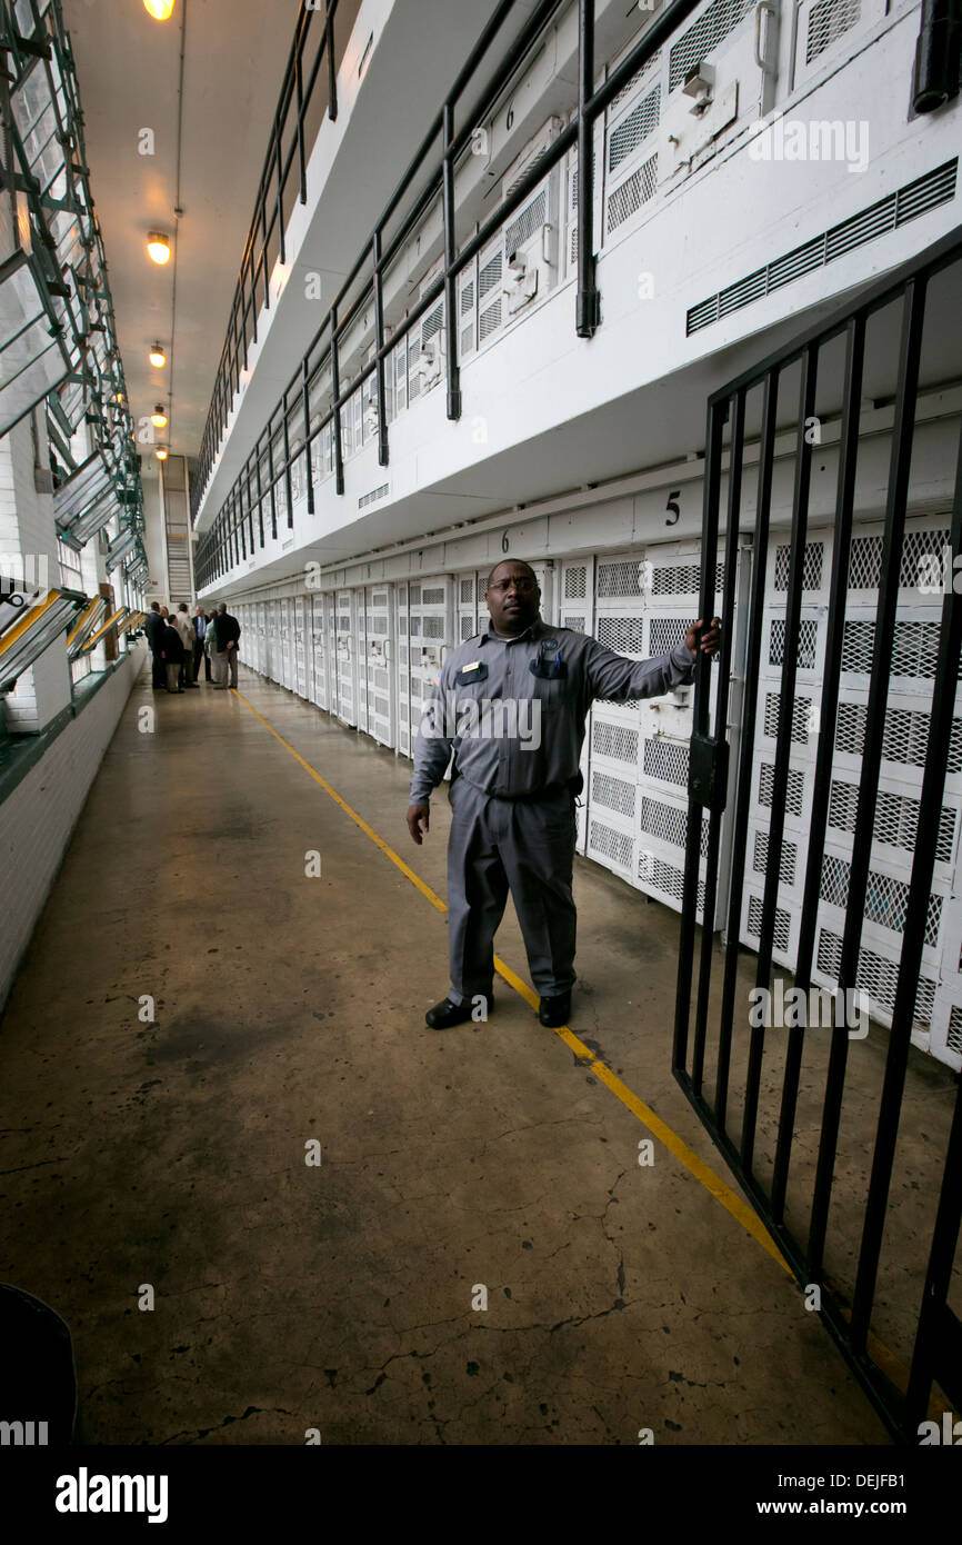
M852 215L851 219L815 236L804 247L797 247L775 263L769 263L767 267L757 269L755 273L749 273L735 284L729 284L727 289L718 290L716 295L692 306L687 314L689 337L703 328L710 328L721 317L741 311L743 306L750 306L752 301L771 294L771 290L801 278L803 273L832 263L854 247L862 247L889 230L897 230L899 226L916 219L917 215L925 215L928 210L937 209L939 204L948 204L956 193L957 165L957 158L947 161L934 171L908 182L862 213Z

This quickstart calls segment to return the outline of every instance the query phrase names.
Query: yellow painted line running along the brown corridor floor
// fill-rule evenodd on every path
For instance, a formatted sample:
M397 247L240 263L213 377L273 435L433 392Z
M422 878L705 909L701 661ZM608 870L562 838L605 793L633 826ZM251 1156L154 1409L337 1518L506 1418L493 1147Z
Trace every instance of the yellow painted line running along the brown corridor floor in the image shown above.
M312 768L309 762L304 760L300 751L295 751L290 742L284 740L284 737L276 732L273 725L269 725L267 720L261 714L258 714L256 708L253 708L253 705L247 701L242 692L238 692L236 688L233 688L232 691L235 697L244 705L244 708L249 709L249 712L252 712L253 717L264 726L264 729L267 729L273 735L273 739L281 746L284 746L286 751L290 752L293 760L298 762L304 768L304 771L310 774L313 782L320 783L320 786L324 789L326 794L330 796L335 805L338 805L344 811L344 814L349 816L351 820L354 820L354 823L361 828L364 836L371 837L371 840L381 850L381 853L386 857L391 859L392 864L397 865L401 874L405 874L405 878L409 879L412 885L417 885L422 896L426 896L431 905L437 907L439 912L448 912L448 904L442 901L437 891L431 890L431 885L426 885L425 881L420 878L420 874L415 874L414 870L408 864L405 864L403 857L400 857L400 854L395 853L394 848L384 842L383 837L378 837L377 831L374 831L374 828L369 827L368 822L361 816L358 816L355 810L351 808L347 800L341 799L337 789L334 789L330 783L326 779L323 779L321 774L315 768ZM523 981L516 972L513 972L511 967L506 966L499 955L494 956L494 969L497 970L497 975L503 981L506 981L508 986L513 987L514 992L517 992L525 1000L525 1003L528 1003L537 1012L539 998L534 989L530 987L528 983ZM584 1058L584 1061L588 1065L590 1072L594 1074L599 1083L604 1083L611 1091L611 1094L618 1100L621 1100L625 1109L628 1109L632 1115L638 1117L642 1126L649 1128L652 1136L656 1137L658 1142L661 1142L669 1149L669 1153L673 1154L675 1159L678 1159L681 1165L684 1165L689 1174L692 1174L706 1188L706 1191L709 1191L715 1197L716 1202L721 1202L726 1211L729 1211L732 1217L735 1217L741 1224L741 1227L752 1236L752 1239L757 1239L761 1248L767 1250L772 1259L777 1261L778 1265L784 1272L788 1272L789 1276L794 1276L791 1265L781 1255L778 1245L774 1242L767 1228L764 1227L758 1214L754 1211L754 1208L750 1208L749 1204L743 1200L743 1197L740 1197L738 1193L733 1191L730 1185L726 1185L721 1176L715 1174L715 1171L707 1163L704 1163L704 1160L699 1159L692 1148L689 1148L689 1145L684 1142L684 1139L678 1136L678 1132L672 1131L672 1128L667 1126L661 1120L661 1117L655 1115L655 1111L649 1105L645 1105L644 1100L639 1100L638 1095L633 1094L632 1089L628 1089L628 1086L622 1083L621 1078L616 1074L613 1074L605 1063L599 1061L594 1052L590 1051L590 1048L587 1048L584 1041L578 1038L578 1035L574 1035L574 1031L571 1031L567 1024L562 1024L559 1029L554 1031L554 1034L565 1043L565 1046L570 1048L570 1051L574 1052L576 1057Z

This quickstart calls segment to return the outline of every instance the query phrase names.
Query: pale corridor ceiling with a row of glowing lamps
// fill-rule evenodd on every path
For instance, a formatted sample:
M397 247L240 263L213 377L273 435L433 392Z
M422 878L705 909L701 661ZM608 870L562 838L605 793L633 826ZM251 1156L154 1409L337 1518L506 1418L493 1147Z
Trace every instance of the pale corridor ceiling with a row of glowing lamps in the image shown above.
M134 420L158 402L173 413L171 451L196 456L227 317L293 39L300 0L176 0L154 22L142 0L62 0L85 117L91 188L117 318ZM174 219L178 82L184 32L182 218ZM151 128L156 153L137 151ZM176 232L173 258L147 256L147 232ZM151 368L154 338L168 363ZM150 447L145 479L156 476Z

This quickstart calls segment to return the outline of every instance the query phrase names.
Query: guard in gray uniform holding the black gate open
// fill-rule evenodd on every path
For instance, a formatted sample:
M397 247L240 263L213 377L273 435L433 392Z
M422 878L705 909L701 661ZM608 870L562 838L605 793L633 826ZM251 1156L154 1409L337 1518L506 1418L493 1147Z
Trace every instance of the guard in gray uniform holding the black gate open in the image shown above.
M540 620L530 564L505 559L485 592L491 623L460 644L425 705L414 748L408 830L420 845L431 791L454 754L448 842L451 992L432 1029L494 1007L494 933L508 890L540 993L542 1024L565 1024L574 981L574 799L593 698L630 703L690 683L701 649L718 650L718 618L693 623L661 660L627 660L596 638ZM483 1000L483 1012L482 1012ZM474 1009L477 1007L477 1014Z

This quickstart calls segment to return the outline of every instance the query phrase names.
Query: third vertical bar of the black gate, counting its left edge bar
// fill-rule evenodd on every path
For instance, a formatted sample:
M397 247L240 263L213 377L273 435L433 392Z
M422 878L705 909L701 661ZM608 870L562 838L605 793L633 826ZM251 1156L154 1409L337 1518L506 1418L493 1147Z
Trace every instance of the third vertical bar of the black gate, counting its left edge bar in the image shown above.
M761 660L761 627L764 620L764 576L767 569L769 547L769 516L772 505L772 465L775 456L775 419L778 413L778 371L772 371L764 380L764 402L761 409L761 439L758 447L758 499L755 516L755 565L752 570L752 595L747 621L747 650L744 678L747 683L758 680L758 663ZM746 692L741 728L741 748L738 757L738 786L735 796L735 831L732 851L744 854L747 851L749 808L752 800L752 780L755 777L755 715L757 701L754 692ZM732 1061L732 1026L735 1018L735 993L738 987L738 939L741 936L741 896L744 890L744 867L735 865L732 887L729 893L727 944L724 952L724 976L721 987L721 1018L718 1029L718 1068L715 1072L715 1120L721 1132L726 1131L729 1074Z

